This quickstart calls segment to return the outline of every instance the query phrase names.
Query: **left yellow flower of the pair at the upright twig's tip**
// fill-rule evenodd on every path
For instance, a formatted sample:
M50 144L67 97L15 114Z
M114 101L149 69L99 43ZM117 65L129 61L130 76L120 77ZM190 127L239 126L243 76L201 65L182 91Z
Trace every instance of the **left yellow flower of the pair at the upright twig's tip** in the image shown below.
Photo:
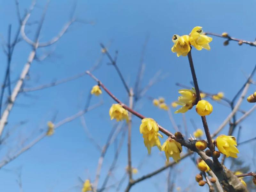
M174 43L172 47L172 52L176 52L177 56L187 56L188 52L190 51L190 43L189 43L189 36L183 35L178 36L174 35L172 36L172 42Z

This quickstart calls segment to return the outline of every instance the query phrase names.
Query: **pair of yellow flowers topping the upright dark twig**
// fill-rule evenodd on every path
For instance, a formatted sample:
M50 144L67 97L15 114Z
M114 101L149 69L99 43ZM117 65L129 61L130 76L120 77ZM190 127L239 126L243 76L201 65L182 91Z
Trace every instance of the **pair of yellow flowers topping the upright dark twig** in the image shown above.
M210 50L209 43L211 41L211 37L204 35L202 27L195 27L189 35L172 36L172 42L174 43L172 52L176 52L178 57L180 55L187 56L191 45L199 51L202 49Z

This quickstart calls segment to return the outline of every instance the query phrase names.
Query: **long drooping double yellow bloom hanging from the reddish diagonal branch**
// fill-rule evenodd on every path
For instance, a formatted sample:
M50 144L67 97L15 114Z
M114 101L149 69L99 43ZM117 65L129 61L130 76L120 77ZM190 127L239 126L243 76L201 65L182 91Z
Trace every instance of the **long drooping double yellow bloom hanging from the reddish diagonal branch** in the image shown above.
M151 148L157 146L161 150L161 143L158 136L163 137L158 133L158 125L154 119L144 118L141 120L140 133L143 135L144 144L148 149L148 154L151 153Z

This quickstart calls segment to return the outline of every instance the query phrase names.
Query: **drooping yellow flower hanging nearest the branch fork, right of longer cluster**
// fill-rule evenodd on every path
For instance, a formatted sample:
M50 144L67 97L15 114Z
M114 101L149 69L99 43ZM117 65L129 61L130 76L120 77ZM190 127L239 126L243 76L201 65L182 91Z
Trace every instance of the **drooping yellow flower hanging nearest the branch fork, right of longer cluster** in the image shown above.
M177 163L178 160L180 160L180 152L182 151L182 147L180 143L174 139L168 138L162 146L162 151L164 151L168 162L169 157L172 157L173 160Z

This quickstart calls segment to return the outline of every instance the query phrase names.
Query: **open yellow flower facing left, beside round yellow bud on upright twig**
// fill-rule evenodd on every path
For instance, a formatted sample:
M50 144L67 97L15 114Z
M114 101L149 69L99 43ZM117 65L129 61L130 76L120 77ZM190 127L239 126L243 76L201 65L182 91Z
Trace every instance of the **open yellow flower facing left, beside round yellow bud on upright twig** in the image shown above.
M179 90L181 96L179 96L178 101L176 102L178 105L182 107L175 111L174 113L185 113L188 109L191 109L195 104L196 100L196 91L194 88L190 89L181 89Z

